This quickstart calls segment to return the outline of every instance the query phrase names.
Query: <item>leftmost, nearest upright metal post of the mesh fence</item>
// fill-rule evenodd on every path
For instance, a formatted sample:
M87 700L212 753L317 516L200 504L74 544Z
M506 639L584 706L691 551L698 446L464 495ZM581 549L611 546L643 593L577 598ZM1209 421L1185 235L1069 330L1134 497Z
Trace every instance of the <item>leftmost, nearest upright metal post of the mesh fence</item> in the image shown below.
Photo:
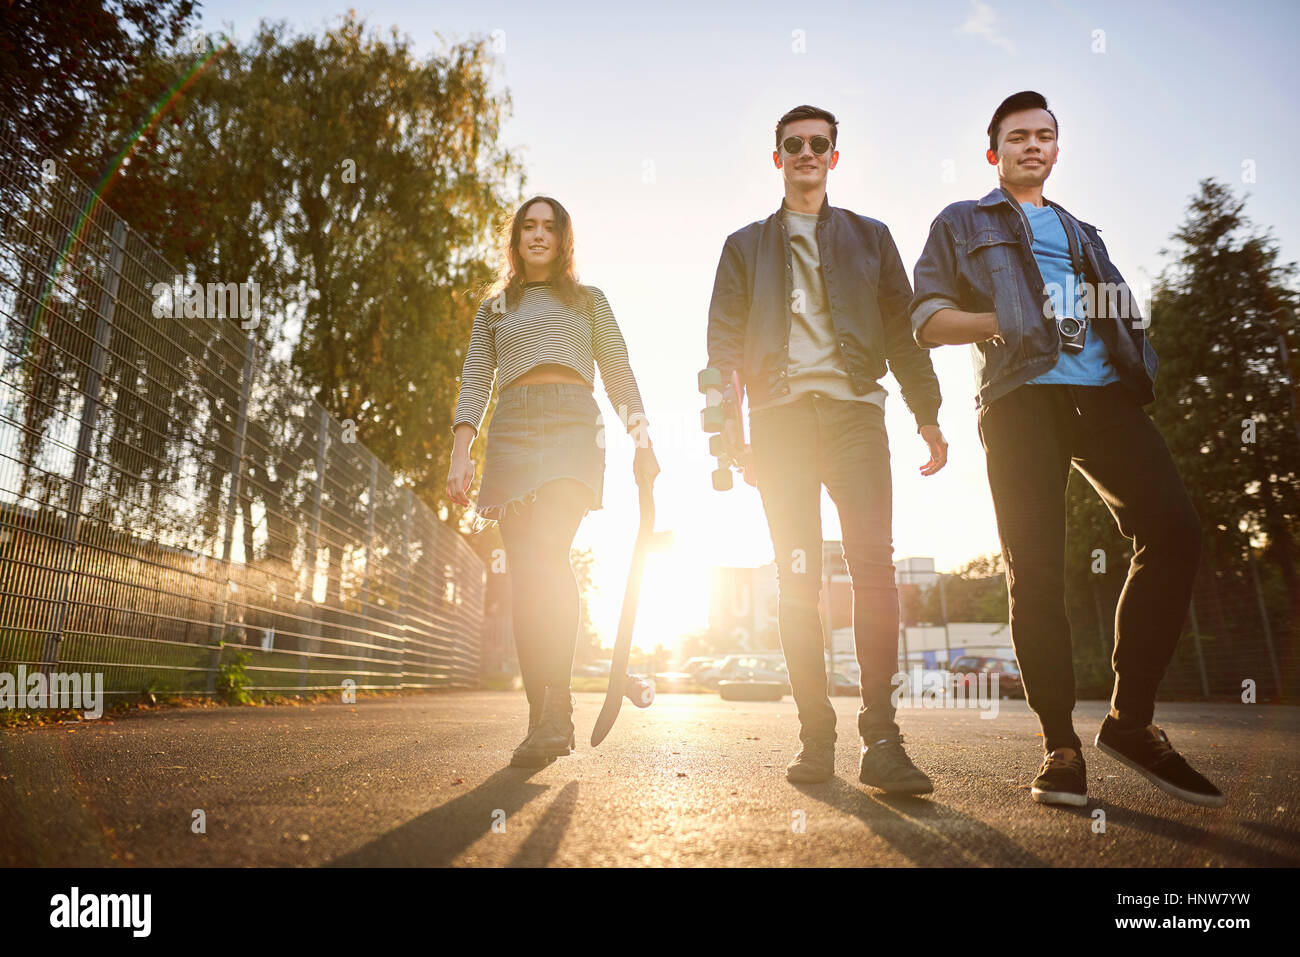
M113 222L112 244L108 254L108 273L104 289L99 296L95 319L95 342L91 348L90 373L86 377L86 400L82 403L81 429L77 433L77 460L73 464L73 478L68 497L68 515L58 549L57 593L55 597L53 628L46 635L46 646L40 655L40 670L47 674L58 663L58 649L64 641L64 625L68 620L68 590L75 564L77 544L81 537L82 497L86 490L86 469L90 465L90 445L95 437L95 423L99 419L100 386L104 380L104 361L108 345L113 335L113 312L117 309L117 286L122 276L122 259L126 251L126 224Z

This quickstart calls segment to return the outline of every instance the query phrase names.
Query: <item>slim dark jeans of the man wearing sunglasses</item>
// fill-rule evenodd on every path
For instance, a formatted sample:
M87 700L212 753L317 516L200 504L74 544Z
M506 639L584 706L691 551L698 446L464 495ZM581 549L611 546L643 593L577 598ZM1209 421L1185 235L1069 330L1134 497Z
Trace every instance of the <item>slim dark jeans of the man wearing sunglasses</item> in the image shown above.
M818 615L823 482L840 514L853 580L853 640L862 672L858 733L875 741L898 731L890 701L898 670L898 589L884 416L870 402L819 393L750 413L758 490L776 555L781 648L803 741L835 737Z

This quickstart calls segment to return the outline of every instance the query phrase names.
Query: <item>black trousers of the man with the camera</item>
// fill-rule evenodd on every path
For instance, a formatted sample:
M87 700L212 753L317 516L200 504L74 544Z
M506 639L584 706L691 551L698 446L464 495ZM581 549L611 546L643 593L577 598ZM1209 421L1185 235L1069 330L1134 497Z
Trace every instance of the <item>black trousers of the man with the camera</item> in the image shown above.
M1134 544L1115 610L1112 714L1147 726L1182 633L1201 529L1169 447L1121 382L1022 385L979 411L1024 697L1046 750L1078 748L1065 611L1065 490L1070 464ZM1071 547L1092 550L1092 542Z

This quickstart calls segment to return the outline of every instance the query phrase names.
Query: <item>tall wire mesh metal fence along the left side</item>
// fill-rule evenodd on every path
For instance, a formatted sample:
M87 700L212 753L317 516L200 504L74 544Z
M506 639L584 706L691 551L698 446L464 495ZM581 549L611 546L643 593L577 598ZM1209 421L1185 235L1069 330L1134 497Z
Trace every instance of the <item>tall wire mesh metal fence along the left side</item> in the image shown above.
M178 270L21 133L0 195L0 671L202 694L247 651L254 690L474 683L468 544L252 330L156 316Z

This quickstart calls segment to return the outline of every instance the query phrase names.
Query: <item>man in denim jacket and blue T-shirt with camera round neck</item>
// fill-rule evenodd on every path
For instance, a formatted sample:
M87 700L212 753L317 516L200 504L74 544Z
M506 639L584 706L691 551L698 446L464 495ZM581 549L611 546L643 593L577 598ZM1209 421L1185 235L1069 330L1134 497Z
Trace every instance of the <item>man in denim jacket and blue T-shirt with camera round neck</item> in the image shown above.
M998 187L953 203L916 263L911 319L926 347L971 343L1011 606L1011 641L1046 757L1040 804L1087 804L1065 611L1065 492L1078 468L1132 540L1115 612L1115 684L1096 744L1161 789L1218 807L1218 788L1152 724L1156 688L1187 615L1200 521L1143 411L1158 360L1097 229L1043 196L1057 161L1046 100L1006 98L988 126ZM1072 542L1075 549L1092 549Z

